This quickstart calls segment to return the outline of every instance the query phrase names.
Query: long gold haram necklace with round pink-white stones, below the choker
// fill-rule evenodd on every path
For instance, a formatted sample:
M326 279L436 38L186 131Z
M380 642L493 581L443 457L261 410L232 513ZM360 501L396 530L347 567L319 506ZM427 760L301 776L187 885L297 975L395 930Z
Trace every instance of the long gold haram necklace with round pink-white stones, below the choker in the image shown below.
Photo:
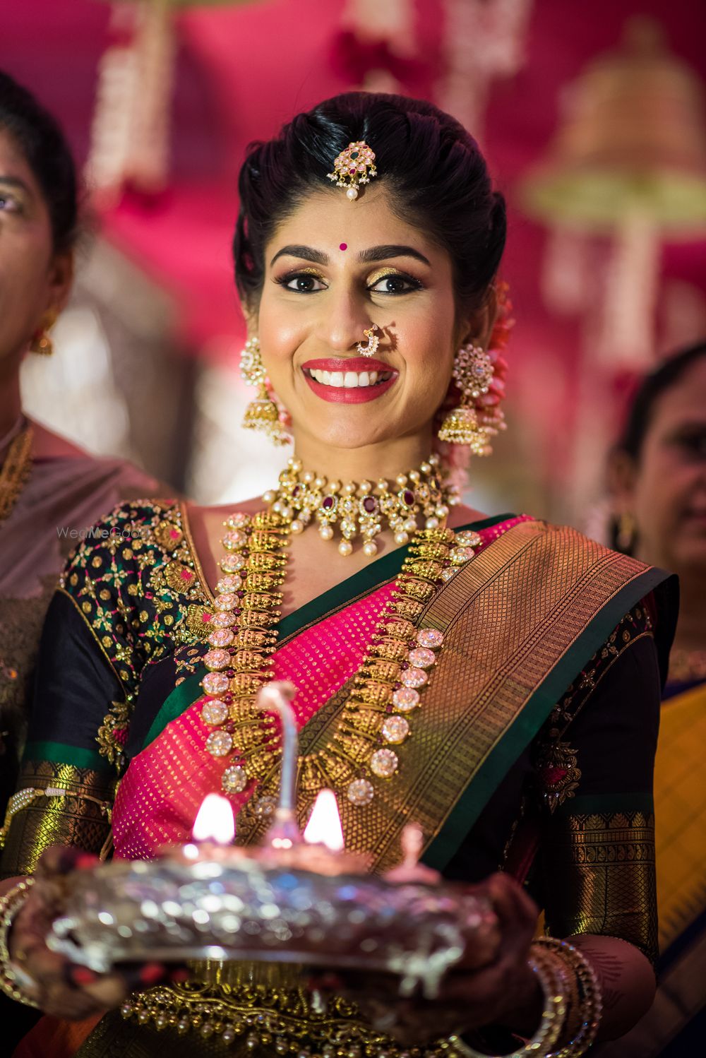
M403 490L413 492L406 486ZM369 494L365 489L360 493L363 498ZM351 498L354 493L349 490L343 495ZM411 529L410 519L423 505L414 495L405 498ZM324 512L329 518L328 507ZM263 715L257 693L273 677L279 588L285 578L292 519L293 512L282 513L281 503L279 510L253 517L237 513L226 519L226 553L220 562L224 576L217 585L210 650L204 656L208 672L201 682L201 715L212 728L205 748L224 759L226 792L240 794L257 781L257 796L249 805L256 818L272 814L279 783L279 725L275 716ZM299 759L299 783L306 792L331 786L351 804L364 806L375 796L374 780L390 780L398 770L398 747L409 736L411 716L444 642L438 628L417 627L416 621L439 587L472 559L480 543L476 532L454 533L443 518L432 517L431 526L428 521L413 534L332 740ZM234 758L238 763L228 762Z

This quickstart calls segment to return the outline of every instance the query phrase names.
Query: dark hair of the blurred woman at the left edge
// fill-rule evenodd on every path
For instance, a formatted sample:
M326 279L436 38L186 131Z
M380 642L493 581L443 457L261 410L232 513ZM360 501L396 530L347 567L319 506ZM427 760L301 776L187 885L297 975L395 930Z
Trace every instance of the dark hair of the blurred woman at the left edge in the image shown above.
M34 95L0 70L0 130L8 132L32 169L49 209L56 253L77 237L76 168L56 120Z

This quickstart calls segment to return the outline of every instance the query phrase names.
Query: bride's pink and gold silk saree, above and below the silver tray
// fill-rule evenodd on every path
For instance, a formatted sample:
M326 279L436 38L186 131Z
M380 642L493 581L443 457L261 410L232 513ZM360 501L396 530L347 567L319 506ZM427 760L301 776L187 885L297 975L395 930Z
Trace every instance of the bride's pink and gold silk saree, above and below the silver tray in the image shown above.
M482 536L484 546L475 559L420 615L421 626L443 633L444 649L422 707L415 710L413 737L400 747L398 772L376 784L374 799L363 810L339 791L347 846L370 854L375 871L398 860L401 832L410 819L424 829L425 861L444 870L587 659L619 619L665 580L658 570L607 551L571 529L528 518L496 524ZM355 580L346 583L352 587ZM331 613L313 616L308 626L283 637L275 675L299 686L302 759L319 753L326 762L366 637L391 587L384 583L357 600L351 591L352 602L341 600ZM350 650L353 627L357 654ZM202 675L194 672L167 696L129 764L113 815L118 856L145 858L160 845L188 840L203 797L220 787L224 764L205 752L208 727L197 704ZM371 732L371 738L376 737L377 732ZM300 824L315 794L300 784ZM266 829L266 814L250 807L257 798L257 789L233 798L239 843L257 842ZM228 984L219 988L194 983L170 989L169 997L145 993L140 1002L141 1023L135 1018L123 1022L119 1013L113 1013L78 1054L207 1054L216 1046L210 1040L213 1025L224 1023L238 1029L236 1053L246 1053L252 1019L261 1019L261 1026L262 1019L271 1017L298 1025L300 1038L303 1033L308 1040L314 1026L310 1043L318 1040L319 1050L324 1046L316 1036L321 1018L296 989L271 996L271 1005L264 1007L257 989ZM333 1018L350 1028L354 1011L343 1007L330 1013L329 1021ZM185 1021L183 1042L176 1033L161 1032L165 1024L181 1027L180 1021ZM207 1032L201 1033L204 1024ZM191 1027L200 1036L188 1032ZM371 1038L360 1027L364 1047L373 1047L373 1053L394 1048L379 1034ZM22 1058L31 1054L18 1052Z

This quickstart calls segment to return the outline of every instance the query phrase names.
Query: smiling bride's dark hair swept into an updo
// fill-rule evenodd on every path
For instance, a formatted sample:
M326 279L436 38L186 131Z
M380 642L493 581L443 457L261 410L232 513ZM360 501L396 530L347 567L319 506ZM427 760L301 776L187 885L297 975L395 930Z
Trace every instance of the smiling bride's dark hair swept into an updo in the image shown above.
M478 144L431 103L369 92L327 99L298 114L276 139L248 148L233 248L242 300L257 306L264 248L277 224L312 190L343 194L328 174L358 140L375 152L374 183L389 191L397 216L449 253L458 304L480 307L498 271L506 221L505 200L493 190Z

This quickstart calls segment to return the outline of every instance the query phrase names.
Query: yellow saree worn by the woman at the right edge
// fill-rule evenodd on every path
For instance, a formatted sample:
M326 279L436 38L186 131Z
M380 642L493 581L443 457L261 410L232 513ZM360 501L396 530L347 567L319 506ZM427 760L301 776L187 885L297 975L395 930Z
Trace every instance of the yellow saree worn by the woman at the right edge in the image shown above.
M699 1054L706 1030L706 683L667 697L654 769L659 962L646 1017L606 1058Z

